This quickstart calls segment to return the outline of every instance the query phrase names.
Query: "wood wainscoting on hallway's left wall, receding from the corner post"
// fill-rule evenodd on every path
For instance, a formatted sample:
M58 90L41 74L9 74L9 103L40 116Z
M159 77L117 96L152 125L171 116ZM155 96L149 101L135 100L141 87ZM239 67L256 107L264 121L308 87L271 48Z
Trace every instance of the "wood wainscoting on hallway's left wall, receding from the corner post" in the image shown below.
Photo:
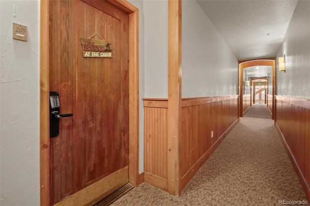
M238 122L238 95L183 99L182 103L180 190Z

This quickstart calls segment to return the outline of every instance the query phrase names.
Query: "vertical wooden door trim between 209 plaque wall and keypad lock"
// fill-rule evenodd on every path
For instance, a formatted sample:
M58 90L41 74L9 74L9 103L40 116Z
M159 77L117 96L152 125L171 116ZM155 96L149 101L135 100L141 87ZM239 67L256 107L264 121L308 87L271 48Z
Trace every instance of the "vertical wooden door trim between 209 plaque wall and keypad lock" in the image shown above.
M49 1L40 2L40 205L49 206Z

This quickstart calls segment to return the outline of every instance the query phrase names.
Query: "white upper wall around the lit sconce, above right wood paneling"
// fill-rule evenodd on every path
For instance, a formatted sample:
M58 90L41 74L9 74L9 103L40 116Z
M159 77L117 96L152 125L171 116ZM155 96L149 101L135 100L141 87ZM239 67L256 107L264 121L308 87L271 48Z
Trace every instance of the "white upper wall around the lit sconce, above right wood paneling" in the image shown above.
M278 57L285 54L285 70L277 65L276 94L310 99L310 1L297 3Z

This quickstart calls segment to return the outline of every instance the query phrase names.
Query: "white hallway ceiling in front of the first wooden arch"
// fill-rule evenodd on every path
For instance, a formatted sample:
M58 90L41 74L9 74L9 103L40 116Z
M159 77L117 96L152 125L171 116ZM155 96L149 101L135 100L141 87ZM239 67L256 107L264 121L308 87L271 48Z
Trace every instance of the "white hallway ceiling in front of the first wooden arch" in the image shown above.
M276 57L298 0L197 0L238 60Z

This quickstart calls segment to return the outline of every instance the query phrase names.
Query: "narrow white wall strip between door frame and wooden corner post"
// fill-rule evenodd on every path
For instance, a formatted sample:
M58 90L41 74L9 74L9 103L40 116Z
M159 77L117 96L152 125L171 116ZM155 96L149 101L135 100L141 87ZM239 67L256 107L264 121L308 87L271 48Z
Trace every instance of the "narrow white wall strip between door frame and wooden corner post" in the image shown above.
M168 98L168 1L143 3L145 97Z

